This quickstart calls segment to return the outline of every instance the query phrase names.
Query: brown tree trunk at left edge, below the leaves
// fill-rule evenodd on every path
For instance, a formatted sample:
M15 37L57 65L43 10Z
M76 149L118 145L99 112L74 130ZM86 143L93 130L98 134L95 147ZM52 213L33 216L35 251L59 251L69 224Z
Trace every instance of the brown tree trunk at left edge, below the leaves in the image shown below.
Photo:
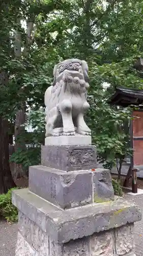
M0 194L3 194L16 185L9 164L8 121L2 116L0 116L0 141Z

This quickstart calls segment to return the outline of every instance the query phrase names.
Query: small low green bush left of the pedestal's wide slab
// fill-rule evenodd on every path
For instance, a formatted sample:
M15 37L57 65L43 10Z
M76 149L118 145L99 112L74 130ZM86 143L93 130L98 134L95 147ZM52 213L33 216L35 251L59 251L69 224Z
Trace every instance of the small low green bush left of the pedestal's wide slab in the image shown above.
M8 222L13 223L18 220L18 210L12 204L12 188L7 194L0 195L0 217L5 218Z

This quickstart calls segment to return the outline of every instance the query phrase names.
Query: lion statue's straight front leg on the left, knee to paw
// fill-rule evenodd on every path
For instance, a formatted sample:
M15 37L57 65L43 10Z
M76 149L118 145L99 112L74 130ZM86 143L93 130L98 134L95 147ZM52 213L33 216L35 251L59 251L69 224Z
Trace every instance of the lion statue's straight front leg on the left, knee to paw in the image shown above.
M63 100L59 104L59 109L63 119L64 135L75 135L75 127L72 120L72 103L69 99Z

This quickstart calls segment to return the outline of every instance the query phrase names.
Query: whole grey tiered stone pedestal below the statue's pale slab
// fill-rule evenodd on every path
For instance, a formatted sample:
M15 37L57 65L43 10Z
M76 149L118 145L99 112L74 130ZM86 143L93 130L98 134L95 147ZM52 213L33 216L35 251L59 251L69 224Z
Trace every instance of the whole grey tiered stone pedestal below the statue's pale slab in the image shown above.
M114 196L94 146L43 146L41 164L30 167L28 188L13 191L15 256L135 256L140 210Z

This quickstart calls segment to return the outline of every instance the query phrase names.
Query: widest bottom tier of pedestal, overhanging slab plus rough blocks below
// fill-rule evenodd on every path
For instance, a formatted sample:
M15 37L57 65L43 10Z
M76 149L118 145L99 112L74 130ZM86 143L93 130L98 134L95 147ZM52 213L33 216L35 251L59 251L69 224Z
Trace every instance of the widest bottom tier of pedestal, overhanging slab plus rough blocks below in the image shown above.
M135 256L138 208L123 199L60 210L27 189L13 191L19 209L15 256Z

